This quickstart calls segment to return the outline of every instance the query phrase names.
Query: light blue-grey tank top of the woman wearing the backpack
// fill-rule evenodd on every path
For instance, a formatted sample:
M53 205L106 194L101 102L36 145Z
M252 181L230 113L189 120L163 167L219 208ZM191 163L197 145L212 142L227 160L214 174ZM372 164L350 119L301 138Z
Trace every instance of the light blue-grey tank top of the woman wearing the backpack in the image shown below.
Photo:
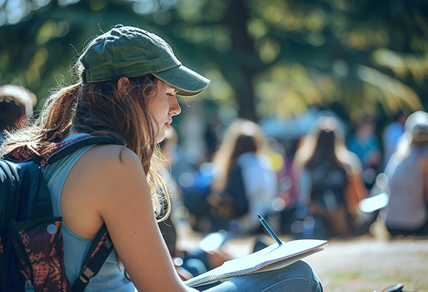
M77 135L71 136L69 139L76 138ZM85 146L78 149L78 151L62 158L51 165L46 166L44 171L46 181L48 182L49 191L52 196L52 207L54 209L54 216L61 216L60 200L61 191L71 168L83 156L86 151L94 145ZM64 264L66 268L66 277L71 285L76 281L83 260L88 252L89 246L92 241L78 236L73 233L65 223L63 226L63 246L64 246ZM98 275L91 278L85 292L92 291L124 291L134 292L136 290L133 283L128 281L123 274L123 265L119 270L116 262L116 253L113 251L108 256L101 271Z

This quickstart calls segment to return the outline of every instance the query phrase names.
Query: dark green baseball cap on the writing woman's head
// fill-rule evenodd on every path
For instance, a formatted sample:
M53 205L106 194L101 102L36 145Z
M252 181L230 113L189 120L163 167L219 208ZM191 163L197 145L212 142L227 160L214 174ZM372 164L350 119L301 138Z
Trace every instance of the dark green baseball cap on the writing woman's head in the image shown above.
M83 51L83 83L153 74L178 89L180 96L200 94L210 80L183 66L173 49L156 34L118 24L97 36Z

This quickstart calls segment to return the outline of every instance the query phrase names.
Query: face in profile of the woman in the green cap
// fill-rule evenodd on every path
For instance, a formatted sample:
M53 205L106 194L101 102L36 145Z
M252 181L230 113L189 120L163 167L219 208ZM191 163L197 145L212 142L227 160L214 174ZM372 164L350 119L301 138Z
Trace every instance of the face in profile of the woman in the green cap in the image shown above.
M158 82L156 84L158 92L162 95L156 96L148 106L148 112L155 121L155 142L159 143L165 138L165 131L170 129L170 124L173 122L173 116L177 116L181 112L175 93L177 89Z

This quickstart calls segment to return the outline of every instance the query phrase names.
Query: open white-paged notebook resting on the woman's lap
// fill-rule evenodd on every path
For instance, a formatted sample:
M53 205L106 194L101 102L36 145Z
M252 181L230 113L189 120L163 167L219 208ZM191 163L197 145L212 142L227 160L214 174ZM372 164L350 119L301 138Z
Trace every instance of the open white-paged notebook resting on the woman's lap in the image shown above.
M322 251L325 245L327 245L327 241L317 239L300 239L287 243L282 242L281 245L273 243L248 256L225 261L222 266L191 278L184 283L186 286L194 287L236 276L244 276L249 273L284 268L306 256Z

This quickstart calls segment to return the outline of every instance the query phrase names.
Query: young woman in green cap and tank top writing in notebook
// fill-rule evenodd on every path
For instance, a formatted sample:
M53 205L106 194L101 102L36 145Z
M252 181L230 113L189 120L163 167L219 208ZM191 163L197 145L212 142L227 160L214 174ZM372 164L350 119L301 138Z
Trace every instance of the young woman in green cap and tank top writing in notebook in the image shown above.
M93 39L75 69L80 81L51 94L35 124L11 134L1 148L26 145L41 153L82 134L126 145L86 146L46 167L54 215L63 217L68 281L76 280L88 246L106 223L116 252L86 291L195 291L178 277L158 228L170 206L156 144L180 114L175 95L199 94L210 81L182 66L163 39L121 25ZM302 262L251 279L227 281L213 291L249 291L238 283L243 281L257 288L251 291L322 291ZM287 285L277 288L281 282ZM289 290L289 284L297 288Z

